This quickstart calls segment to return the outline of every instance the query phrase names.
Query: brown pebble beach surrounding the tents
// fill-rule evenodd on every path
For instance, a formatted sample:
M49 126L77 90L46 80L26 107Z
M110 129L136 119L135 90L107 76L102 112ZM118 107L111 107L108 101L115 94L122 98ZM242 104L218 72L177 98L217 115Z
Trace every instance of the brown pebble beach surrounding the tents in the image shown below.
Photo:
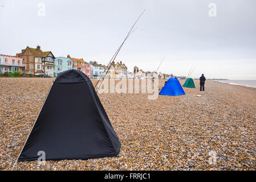
M53 81L0 78L0 170L13 168ZM23 161L13 170L255 170L256 88L206 80L200 92L194 83L185 95L156 100L99 94L121 142L117 157Z

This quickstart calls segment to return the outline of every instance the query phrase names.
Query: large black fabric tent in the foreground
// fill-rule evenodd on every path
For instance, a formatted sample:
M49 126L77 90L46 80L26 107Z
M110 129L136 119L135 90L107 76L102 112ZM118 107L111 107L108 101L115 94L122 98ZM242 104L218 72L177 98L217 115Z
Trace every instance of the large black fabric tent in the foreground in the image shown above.
M117 156L120 141L91 80L71 69L56 77L18 160Z

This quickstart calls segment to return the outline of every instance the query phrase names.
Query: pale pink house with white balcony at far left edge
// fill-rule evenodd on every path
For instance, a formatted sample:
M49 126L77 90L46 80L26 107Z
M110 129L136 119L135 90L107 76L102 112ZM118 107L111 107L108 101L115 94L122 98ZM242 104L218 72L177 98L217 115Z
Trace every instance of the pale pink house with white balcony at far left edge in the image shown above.
M0 55L0 73L18 71L23 73L24 68L22 58L19 57L19 54L16 56Z

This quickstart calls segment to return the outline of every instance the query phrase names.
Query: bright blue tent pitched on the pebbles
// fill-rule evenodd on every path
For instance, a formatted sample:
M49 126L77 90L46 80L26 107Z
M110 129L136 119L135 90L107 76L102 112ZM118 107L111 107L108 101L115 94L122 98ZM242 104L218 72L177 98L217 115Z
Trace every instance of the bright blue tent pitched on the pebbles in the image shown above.
M182 89L182 86L180 85L180 82L178 81L178 78L176 77L170 77L162 90L160 91L159 95L165 95L165 96L180 96L185 95L184 90Z

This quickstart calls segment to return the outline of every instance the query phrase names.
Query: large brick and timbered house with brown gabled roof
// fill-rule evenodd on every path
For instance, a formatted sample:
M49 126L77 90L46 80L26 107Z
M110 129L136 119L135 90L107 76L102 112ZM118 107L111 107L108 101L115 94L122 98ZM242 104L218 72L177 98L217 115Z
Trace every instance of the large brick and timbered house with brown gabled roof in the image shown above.
M54 77L54 55L51 51L43 52L40 46L31 48L29 46L26 49L22 49L19 54L22 57L22 62L25 64L25 72L31 75L42 75Z

